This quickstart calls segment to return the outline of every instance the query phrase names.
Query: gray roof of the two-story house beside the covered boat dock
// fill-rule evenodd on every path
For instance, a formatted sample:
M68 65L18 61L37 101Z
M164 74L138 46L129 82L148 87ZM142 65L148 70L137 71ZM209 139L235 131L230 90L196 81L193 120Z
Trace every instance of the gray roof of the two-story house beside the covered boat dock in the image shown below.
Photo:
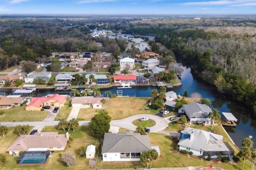
M209 113L212 112L212 109L204 104L193 103L189 105L183 105L185 112L190 117L207 117Z

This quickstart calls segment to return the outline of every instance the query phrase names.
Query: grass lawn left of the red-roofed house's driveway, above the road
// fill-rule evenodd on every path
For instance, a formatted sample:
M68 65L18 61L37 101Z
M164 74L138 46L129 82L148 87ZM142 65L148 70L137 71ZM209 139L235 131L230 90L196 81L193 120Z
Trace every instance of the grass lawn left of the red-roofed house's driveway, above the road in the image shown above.
M3 109L4 115L0 116L0 121L43 121L48 114L47 111L25 111L25 107L26 105Z

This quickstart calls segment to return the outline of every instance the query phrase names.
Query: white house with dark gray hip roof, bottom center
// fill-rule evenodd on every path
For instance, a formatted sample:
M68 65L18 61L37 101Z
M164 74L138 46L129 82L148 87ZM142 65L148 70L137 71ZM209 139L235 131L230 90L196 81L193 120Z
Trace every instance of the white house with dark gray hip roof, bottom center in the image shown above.
M105 133L101 153L103 162L139 161L142 152L153 148L159 154L159 147L151 146L148 135L133 132Z

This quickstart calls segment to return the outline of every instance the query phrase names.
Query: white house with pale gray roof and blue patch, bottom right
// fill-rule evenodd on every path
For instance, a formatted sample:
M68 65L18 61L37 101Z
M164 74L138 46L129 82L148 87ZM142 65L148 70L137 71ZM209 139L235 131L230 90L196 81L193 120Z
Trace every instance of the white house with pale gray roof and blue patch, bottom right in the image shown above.
M181 131L179 150L192 151L193 155L228 155L231 150L222 141L223 136L200 129L185 128ZM228 144L227 144L228 145Z

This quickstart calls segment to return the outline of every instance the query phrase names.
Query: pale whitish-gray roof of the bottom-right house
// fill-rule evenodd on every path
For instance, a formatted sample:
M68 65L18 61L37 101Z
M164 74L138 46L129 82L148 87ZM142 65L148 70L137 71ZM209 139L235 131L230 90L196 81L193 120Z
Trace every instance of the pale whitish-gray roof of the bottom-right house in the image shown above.
M229 151L222 141L222 135L194 128L185 128L181 133L193 135L193 138L181 139L179 146L202 151Z

